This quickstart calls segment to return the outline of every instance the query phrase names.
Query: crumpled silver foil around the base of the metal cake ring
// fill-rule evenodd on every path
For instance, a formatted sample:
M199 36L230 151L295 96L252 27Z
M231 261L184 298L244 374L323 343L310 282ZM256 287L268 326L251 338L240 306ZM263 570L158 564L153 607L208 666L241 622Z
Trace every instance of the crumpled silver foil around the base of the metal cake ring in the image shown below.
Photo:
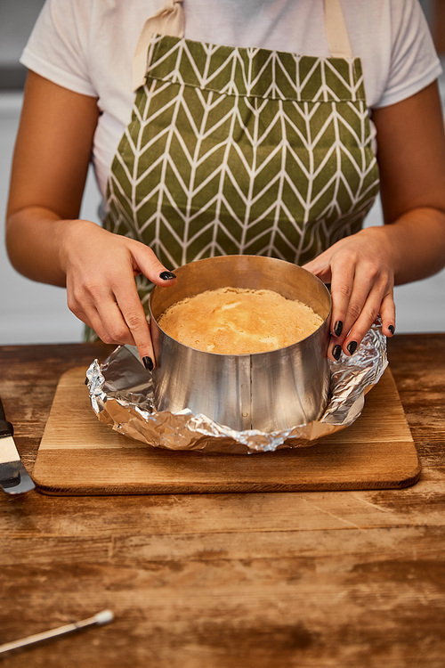
M388 365L380 327L368 331L351 357L342 354L330 364L330 400L320 420L274 432L235 431L187 408L157 411L151 374L134 346L117 346L102 364L94 360L86 383L98 419L119 434L167 450L251 454L306 447L352 425L363 410L365 395Z

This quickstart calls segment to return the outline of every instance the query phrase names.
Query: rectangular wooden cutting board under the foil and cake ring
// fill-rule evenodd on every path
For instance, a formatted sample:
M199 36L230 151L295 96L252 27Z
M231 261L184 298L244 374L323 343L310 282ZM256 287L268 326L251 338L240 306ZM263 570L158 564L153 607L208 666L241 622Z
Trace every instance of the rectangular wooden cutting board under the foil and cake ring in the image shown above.
M121 436L91 407L85 368L54 395L33 478L48 494L360 490L413 485L420 462L389 369L360 418L310 447L261 454L171 452Z

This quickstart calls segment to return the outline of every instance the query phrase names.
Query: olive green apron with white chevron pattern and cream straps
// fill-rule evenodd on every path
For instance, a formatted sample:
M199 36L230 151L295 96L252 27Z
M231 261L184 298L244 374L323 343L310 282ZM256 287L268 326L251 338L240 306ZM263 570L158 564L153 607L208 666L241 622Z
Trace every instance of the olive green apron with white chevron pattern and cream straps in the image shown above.
M338 0L325 0L328 58L184 39L182 8L167 5L178 35L157 34L157 21L151 35L150 20L142 31L145 77L112 163L106 229L173 270L229 254L303 265L358 232L378 168ZM150 281L136 282L148 310Z

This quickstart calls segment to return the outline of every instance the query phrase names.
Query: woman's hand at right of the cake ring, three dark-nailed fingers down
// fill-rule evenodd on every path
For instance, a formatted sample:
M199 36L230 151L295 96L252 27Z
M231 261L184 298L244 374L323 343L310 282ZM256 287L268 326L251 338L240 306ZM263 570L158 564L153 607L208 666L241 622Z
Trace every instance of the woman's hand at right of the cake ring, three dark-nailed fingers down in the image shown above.
M368 227L320 253L304 269L331 284L331 341L328 356L351 355L376 321L385 336L395 330L394 261L384 227Z

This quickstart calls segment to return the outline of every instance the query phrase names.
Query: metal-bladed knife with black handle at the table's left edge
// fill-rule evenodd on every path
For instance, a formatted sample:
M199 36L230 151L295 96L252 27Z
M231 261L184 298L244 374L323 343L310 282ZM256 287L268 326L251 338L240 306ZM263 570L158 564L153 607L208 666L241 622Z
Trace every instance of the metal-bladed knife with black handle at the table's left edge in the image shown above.
M27 469L20 460L12 435L11 422L6 421L4 407L0 399L0 486L8 494L21 494L34 489Z

